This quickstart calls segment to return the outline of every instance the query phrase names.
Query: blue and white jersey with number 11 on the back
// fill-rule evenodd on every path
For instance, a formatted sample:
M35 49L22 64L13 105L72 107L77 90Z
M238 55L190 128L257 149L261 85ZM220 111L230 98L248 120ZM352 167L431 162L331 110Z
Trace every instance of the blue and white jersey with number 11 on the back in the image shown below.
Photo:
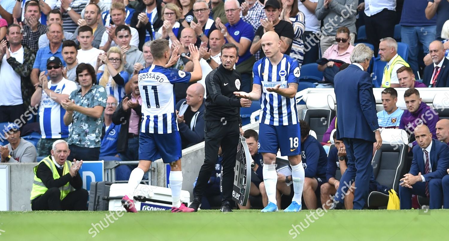
M167 134L178 131L174 83L188 83L191 74L151 65L139 72L142 96L141 132Z

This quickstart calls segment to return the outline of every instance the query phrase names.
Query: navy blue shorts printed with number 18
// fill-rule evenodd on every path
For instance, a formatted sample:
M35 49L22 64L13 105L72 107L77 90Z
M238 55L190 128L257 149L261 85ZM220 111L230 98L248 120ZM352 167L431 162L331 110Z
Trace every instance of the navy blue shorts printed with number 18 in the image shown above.
M277 154L280 149L282 156L295 156L301 153L301 131L299 124L273 126L259 124L259 153Z

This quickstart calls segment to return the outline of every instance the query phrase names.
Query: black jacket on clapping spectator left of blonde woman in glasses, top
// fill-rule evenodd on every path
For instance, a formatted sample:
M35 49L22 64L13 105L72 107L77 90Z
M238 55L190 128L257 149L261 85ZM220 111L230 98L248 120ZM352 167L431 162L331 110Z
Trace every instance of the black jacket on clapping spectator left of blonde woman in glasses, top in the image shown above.
M143 3L143 1L139 0L139 4L135 7L136 11L134 14L132 14L131 18L131 26L133 28L136 28L137 32L139 33L139 49L142 51L143 44L145 44L145 38L146 38L146 31L150 33L150 39L153 39L153 31L151 30L151 23L148 22L145 26L141 25L140 27L136 27L137 22L139 22L139 19L137 16L139 16L140 13L146 12L146 5ZM158 16L154 18L153 22L153 28L154 31L158 31L160 27L163 25L162 21L162 0L156 0L156 9L158 11Z

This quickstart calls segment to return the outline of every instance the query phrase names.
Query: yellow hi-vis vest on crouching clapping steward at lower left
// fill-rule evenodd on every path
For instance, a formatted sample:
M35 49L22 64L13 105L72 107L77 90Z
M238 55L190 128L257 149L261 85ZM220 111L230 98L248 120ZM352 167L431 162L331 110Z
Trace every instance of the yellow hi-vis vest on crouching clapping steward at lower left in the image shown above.
M42 159L42 161L40 161L39 164L34 167L33 189L31 190L31 199L30 199L31 201L36 197L44 195L44 193L48 190L48 188L44 185L44 183L42 183L42 180L40 180L36 176L37 167L39 167L41 162L44 162L45 165L47 165L47 167L50 168L50 170L53 173L53 179L56 180L61 177L57 172L57 167L53 163L51 156ZM72 162L66 160L66 162L64 163L62 174L66 175L67 173L69 173L70 167L72 167ZM73 191L73 188L72 186L70 186L70 182L67 182L66 184L64 184L64 186L60 187L59 190L61 191L61 200L62 200L64 199L64 197L67 196L67 194Z

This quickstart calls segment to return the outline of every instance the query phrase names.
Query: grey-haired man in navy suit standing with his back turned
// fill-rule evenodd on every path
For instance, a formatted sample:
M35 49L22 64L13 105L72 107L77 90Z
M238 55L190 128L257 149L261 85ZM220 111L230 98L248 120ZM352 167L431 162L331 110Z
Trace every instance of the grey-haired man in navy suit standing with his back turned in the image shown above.
M357 192L354 194L354 209L362 209L368 197L370 177L373 173L373 143L382 145L377 122L373 81L366 72L373 51L365 44L357 44L351 53L348 68L335 74L334 91L337 100L337 138L343 139L348 157L348 168L344 172L330 209L343 208L344 193L355 178Z

